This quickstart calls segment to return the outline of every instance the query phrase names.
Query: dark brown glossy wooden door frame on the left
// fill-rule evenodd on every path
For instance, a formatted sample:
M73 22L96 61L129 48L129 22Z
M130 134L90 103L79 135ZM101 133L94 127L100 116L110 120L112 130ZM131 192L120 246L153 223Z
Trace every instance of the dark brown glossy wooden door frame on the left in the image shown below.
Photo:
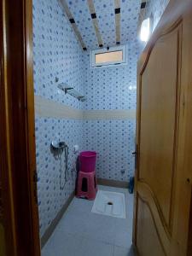
M3 256L39 256L32 0L1 1L0 19L0 223L6 251Z

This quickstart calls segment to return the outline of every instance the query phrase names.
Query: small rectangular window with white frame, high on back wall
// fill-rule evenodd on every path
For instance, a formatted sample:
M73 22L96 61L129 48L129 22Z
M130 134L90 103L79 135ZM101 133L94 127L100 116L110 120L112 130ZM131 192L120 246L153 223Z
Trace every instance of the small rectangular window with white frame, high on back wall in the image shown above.
M92 50L91 67L106 67L126 64L126 47Z

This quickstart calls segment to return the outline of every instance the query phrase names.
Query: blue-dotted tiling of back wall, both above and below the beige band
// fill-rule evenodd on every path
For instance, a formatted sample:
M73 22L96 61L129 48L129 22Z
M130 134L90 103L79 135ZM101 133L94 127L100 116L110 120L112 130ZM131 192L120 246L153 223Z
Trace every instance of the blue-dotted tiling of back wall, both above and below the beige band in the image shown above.
M86 67L86 109L136 109L137 59L139 45L127 44L127 65L90 67L90 53L84 54ZM86 121L84 148L96 150L97 175L102 178L128 181L134 175L134 120Z

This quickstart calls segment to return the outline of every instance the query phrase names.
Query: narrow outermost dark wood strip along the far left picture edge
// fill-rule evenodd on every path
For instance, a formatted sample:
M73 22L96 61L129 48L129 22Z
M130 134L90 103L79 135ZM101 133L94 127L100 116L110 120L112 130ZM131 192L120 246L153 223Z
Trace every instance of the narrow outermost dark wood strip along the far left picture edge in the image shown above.
M9 141L10 127L8 119L8 91L7 91L7 52L4 43L4 30L6 17L4 15L4 1L0 3L0 50L1 50L1 70L0 70L0 194L1 194L1 210L0 223L2 224L0 247L3 248L5 255L16 255L15 241L15 218L13 207L13 189L11 187L11 160ZM9 246L5 244L9 241Z

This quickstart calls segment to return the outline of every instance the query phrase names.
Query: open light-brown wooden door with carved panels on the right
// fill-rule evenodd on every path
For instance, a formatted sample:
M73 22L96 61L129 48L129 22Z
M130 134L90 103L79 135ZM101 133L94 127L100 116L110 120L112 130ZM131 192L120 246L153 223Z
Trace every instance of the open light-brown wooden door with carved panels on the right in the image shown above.
M140 256L192 255L192 1L171 0L138 63L133 241Z

